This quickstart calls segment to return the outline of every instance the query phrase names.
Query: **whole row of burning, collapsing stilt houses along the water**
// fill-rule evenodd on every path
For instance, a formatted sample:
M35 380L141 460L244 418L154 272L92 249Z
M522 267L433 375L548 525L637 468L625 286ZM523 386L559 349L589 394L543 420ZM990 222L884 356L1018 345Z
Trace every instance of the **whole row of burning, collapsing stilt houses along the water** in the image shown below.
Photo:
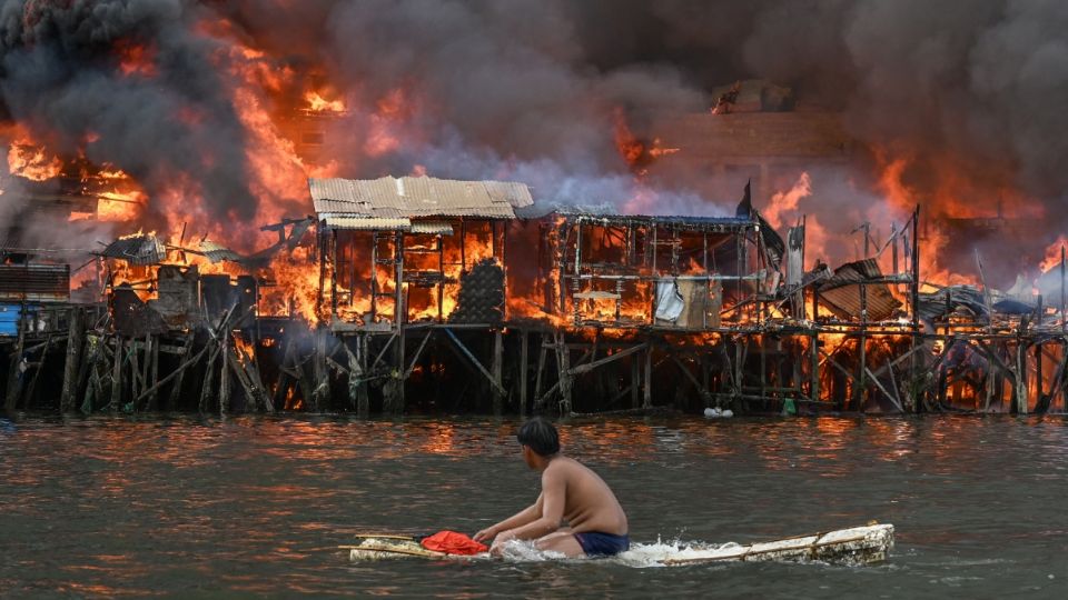
M807 271L804 224L780 237L748 192L722 218L428 177L312 179L309 194L314 214L265 227L278 240L250 257L184 232L115 240L105 304L69 303L55 268L3 266L7 407L1065 407L1064 263L1041 284L1055 302L928 291L918 210L860 260ZM59 309L46 324L41 302Z

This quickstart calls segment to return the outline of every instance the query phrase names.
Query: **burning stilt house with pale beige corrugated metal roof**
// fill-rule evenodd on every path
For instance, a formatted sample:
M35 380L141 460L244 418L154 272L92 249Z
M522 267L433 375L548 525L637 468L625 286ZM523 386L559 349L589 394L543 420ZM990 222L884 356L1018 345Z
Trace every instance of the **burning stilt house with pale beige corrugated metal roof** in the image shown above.
M312 179L320 313L333 328L501 323L508 221L521 183L427 177Z

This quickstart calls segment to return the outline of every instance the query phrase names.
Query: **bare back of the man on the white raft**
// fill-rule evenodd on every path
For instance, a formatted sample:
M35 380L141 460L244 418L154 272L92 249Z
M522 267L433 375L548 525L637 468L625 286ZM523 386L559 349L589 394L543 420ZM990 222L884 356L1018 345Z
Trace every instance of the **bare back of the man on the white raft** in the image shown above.
M627 533L626 513L607 483L581 462L557 456L542 473L542 488L550 479L563 481L564 519L575 532Z

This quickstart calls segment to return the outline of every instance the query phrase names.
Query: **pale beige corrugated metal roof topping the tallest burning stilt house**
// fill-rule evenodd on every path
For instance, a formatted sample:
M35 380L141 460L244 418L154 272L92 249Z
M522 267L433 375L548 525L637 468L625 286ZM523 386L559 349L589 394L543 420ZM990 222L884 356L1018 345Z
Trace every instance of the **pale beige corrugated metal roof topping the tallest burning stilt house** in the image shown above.
M514 219L514 207L534 203L526 186L506 181L455 181L431 177L309 179L308 188L319 214L345 213L378 219Z

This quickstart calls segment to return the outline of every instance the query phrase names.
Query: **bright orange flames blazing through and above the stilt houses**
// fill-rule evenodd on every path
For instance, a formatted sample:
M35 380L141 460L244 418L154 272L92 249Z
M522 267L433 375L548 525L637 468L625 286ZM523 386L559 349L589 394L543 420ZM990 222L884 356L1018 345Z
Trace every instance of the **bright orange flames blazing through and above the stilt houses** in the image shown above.
M363 319L372 310L372 292L365 289L369 284L360 283L360 279L366 281L370 278L375 279L380 293L402 298L400 307L394 306L396 298L376 300L375 308L383 316L389 317L390 311L403 310L406 319L418 321L445 318L452 313L457 304L458 281L464 272L479 260L494 256L493 233L468 230L463 241L466 246L463 256L452 243L435 254L431 249L435 243L443 243L441 239L417 239L414 243L423 247L402 250L402 253L411 250L422 258L411 259L405 269L412 272L439 269L443 280L424 278L421 282L404 283L400 290L393 287L395 283L389 267L380 264L370 267L369 262L362 263L353 267L348 273L322 272L312 234L254 267L229 261L210 263L204 256L186 251L195 246L190 240L197 239L219 240L246 257L270 247L277 241L276 233L261 231L258 226L307 216L310 212L307 201L309 177L349 174L338 172L338 163L330 157L309 159L308 147L323 146L330 132L357 140L348 148L358 148L362 157L375 159L394 156L423 141L418 139L422 118L437 109L433 99L423 97L419 87L413 84L407 76L388 92L369 94L352 81L325 81L323 73L328 72L325 64L296 67L297 63L290 63L279 56L277 49L257 47L254 36L239 33L239 27L226 19L199 21L196 31L202 40L214 43L210 60L240 123L247 189L235 191L247 192L255 210L233 204L229 198L209 197L200 172L179 169L167 171L165 166L154 171L151 177L145 177L140 174L145 170L136 169L137 166L103 161L93 163L91 157L97 156L93 149L111 141L105 137L108 133L101 132L105 129L85 132L82 148L73 156L58 156L49 149L47 140L55 139L56 132L46 120L18 122L3 132L10 140L9 173L36 182L69 178L75 173L75 179L81 186L80 192L96 199L97 220L115 223L120 232L148 227L166 232L169 262L196 264L205 273L237 276L251 271L265 282L265 300L260 307L265 313L295 313L318 320L327 318L336 306L340 314ZM166 77L166 56L157 44L123 39L113 42L110 52L113 69L122 78L154 80ZM224 159L211 143L212 132L208 130L210 121L206 110L195 100L187 98L177 102L171 117L176 127L187 128L199 136L202 143L198 148L199 159L205 171L210 172ZM650 169L655 162L666 160L665 157L682 150L666 146L655 131L635 133L636 128L629 122L627 113L622 108L605 109L605 112L604 123L612 129L605 136L612 138L621 158L621 167L634 179L633 196L591 200L611 200L633 213L654 213L660 194L649 180ZM349 118L353 120L347 120ZM308 122L316 123L317 129L301 129ZM362 129L338 132L330 130L334 126L337 129ZM154 141L158 144L167 142ZM942 257L951 242L951 232L945 227L948 218L978 218L986 214L973 201L980 191L986 196L997 196L999 202L1011 206L1016 214L1042 216L1038 202L1015 192L1010 186L995 183L991 187L989 182L967 181L965 176L958 174L963 171L957 169L952 160L932 166L930 170L937 176L918 183L907 177L909 169L916 166L917 159L912 156L881 148L870 150L877 171L873 188L881 196L881 202L868 212L860 211L861 218L874 220L889 216L894 226L893 232L900 232L908 227L913 208L917 204L923 207L924 221L918 240L923 282L937 286L978 283L975 272L955 271L945 263ZM422 164L409 164L404 169L411 169L414 173L426 172ZM995 178L995 181L1003 180ZM890 236L893 233L888 231L882 231L879 239L866 238L860 244L856 233L830 230L828 223L833 216L805 214L801 202L807 198L818 199L821 193L808 172L801 172L783 189L765 191L769 192L765 198L753 199L754 206L760 208L775 230L784 232L804 222L805 269L814 267L817 261L877 258L883 272L890 273L891 253L883 252L883 249L891 242L904 248L904 244L898 243L901 240L892 240ZM219 206L229 208L220 211ZM79 213L78 217L85 214ZM869 231L866 229L863 234L868 237ZM1059 247L1062 244L1064 239L1051 247L1041 263L1042 269L1059 262ZM861 246L867 249L867 254L848 251ZM897 272L903 272L908 269L908 262L904 256L899 258ZM348 260L354 263L357 261L356 258ZM681 272L700 271L698 261L693 257L689 260L690 263L684 264ZM442 266L433 264L435 261L441 261ZM554 278L546 277L542 283L547 284ZM328 282L334 282L336 292L327 293L323 299L319 292L330 287ZM629 290L630 300L623 306L617 307L613 301L616 290L596 290L603 293L594 294L586 301L587 312L599 317L649 319L652 289L636 283L626 286L635 286L636 289ZM560 318L546 313L544 304L543 298L508 298L507 310L520 317L537 314Z

